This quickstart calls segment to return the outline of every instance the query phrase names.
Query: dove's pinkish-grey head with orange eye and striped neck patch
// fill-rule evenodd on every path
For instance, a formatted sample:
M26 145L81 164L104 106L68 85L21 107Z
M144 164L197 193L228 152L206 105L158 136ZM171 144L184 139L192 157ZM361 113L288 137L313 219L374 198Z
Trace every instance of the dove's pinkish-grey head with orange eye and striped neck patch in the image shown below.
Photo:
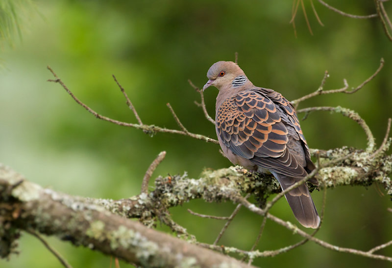
M231 86L241 86L246 82L244 71L232 61L215 62L207 72L207 83L203 86L203 91L213 85L219 90L230 88Z

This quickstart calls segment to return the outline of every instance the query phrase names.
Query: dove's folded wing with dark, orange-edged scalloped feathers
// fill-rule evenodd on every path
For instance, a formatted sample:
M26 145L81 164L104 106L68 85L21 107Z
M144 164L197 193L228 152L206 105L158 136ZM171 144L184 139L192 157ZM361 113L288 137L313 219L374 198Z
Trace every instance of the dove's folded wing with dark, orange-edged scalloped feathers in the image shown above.
M274 103L263 90L245 90L223 102L216 116L218 136L234 154L258 166L290 177L304 177L306 170L288 147L293 138L289 130L293 128L297 139L306 144L294 108L277 92Z

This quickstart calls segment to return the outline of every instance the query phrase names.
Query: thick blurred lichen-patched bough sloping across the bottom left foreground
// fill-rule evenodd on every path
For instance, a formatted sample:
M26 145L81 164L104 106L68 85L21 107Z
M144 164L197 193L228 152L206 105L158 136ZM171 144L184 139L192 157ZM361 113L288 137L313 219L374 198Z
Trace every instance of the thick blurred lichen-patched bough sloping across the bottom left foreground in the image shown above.
M0 165L0 205L2 257L15 244L7 234L33 228L143 267L247 267L102 206L41 188L4 165Z

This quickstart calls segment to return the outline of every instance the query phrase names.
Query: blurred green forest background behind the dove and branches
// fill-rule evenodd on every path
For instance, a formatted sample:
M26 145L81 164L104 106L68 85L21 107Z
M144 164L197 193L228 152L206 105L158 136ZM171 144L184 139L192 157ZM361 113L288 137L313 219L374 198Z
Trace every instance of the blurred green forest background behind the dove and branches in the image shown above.
M26 2L15 2L21 7L16 10L21 17L21 37L14 34L12 45L1 40L0 162L43 187L91 197L132 196L139 193L148 165L163 150L166 159L153 177L187 171L197 178L204 168L230 165L217 145L174 134L150 137L97 120L60 85L47 82L53 78L47 65L100 114L136 122L111 77L114 74L144 123L177 129L166 107L169 102L189 131L215 138L214 127L194 104L199 95L187 80L201 87L208 68L218 60L234 60L238 52L239 65L255 85L273 88L294 100L316 90L325 70L330 73L326 89L342 87L344 78L356 87L384 57L382 72L356 94L318 96L299 108L340 105L353 109L366 120L377 144L392 116L392 44L377 19L342 17L314 1L322 27L310 2L304 0L314 35L299 9L295 37L289 24L292 1ZM328 3L353 14L374 13L373 1ZM392 15L391 4L385 6ZM205 93L212 116L216 95L215 88ZM312 113L301 126L311 148L366 146L362 129L339 114ZM320 210L322 192L314 192L313 197ZM330 189L324 226L317 237L362 250L390 241L392 213L388 207L392 207L390 197L382 196L375 186ZM198 200L172 209L174 220L199 241L212 243L224 222L200 219L188 214L187 208L229 215L235 205ZM296 223L283 199L272 213ZM241 210L221 244L250 249L261 222L259 216ZM108 256L56 238L48 240L74 267L109 267ZM258 249L277 249L300 240L268 221ZM0 260L0 267L61 267L30 235L24 234L19 243L21 254L9 262ZM380 253L391 256L392 249ZM253 264L263 268L390 267L387 262L333 252L312 242ZM121 263L121 267L132 266Z

